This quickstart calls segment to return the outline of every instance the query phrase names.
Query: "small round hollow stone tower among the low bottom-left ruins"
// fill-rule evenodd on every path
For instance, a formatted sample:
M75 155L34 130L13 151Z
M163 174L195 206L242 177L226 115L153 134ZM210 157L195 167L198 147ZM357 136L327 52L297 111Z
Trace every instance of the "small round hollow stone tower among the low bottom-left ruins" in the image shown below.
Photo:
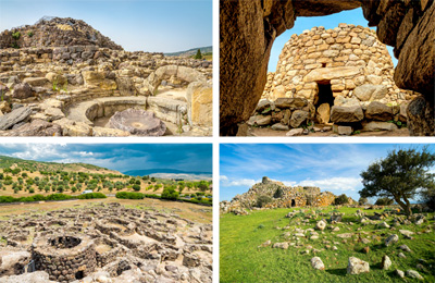
M86 235L46 235L35 238L32 257L36 270L50 280L71 282L90 274L96 266L94 239Z

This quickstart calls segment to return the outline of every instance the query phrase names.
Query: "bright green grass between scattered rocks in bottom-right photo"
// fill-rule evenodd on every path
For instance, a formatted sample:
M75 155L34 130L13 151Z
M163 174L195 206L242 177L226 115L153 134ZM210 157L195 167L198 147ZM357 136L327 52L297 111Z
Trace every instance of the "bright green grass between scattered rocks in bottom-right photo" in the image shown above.
M322 210L328 212L333 208ZM374 224L363 225L357 222L353 216L357 208L341 208L345 212L344 223L336 224L338 232L332 232L327 227L324 233L318 231L319 239L300 238L298 243L303 247L290 246L288 249L259 247L262 243L296 242L293 239L296 227L307 230L314 227L318 219L310 219L309 223L297 224L301 219L288 219L285 216L294 209L274 209L252 211L249 216L234 216L232 213L221 216L220 221L220 281L221 282L418 282L407 278L406 281L395 274L396 269L407 271L417 270L425 282L435 282L435 234L434 213L431 213L422 225L400 225L395 231L389 229L376 229ZM307 214L310 210L307 210ZM380 210L364 210L373 214ZM323 217L327 218L327 217ZM391 224L391 219L386 220ZM352 225L347 222L353 222ZM381 221L377 221L381 222ZM283 229L285 226L289 229ZM330 224L328 224L330 225ZM276 229L279 227L279 229ZM413 239L406 239L398 230L430 233L414 234ZM290 233L291 236L284 234ZM337 234L355 233L352 238L343 239ZM389 247L383 245L384 239L390 234L399 235L399 242ZM358 238L365 237L371 242L361 243ZM330 242L326 243L325 241ZM407 258L399 258L400 245L408 245L412 253L406 253ZM315 249L322 249L313 254L309 245ZM338 249L326 248L326 245L336 246ZM369 254L362 253L362 248L369 246ZM309 254L302 254L310 250ZM381 269L381 260L388 255L393 266L388 271ZM314 270L310 259L319 256L325 264L325 270ZM349 257L357 257L370 263L370 272L358 275L347 274ZM424 259L425 262L419 261ZM422 263L425 270L418 270L417 264Z

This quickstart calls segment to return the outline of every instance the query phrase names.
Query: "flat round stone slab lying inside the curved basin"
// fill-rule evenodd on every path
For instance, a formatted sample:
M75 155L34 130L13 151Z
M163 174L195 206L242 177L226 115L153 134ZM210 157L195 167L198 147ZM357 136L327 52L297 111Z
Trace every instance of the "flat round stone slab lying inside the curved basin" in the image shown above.
M150 111L127 109L110 118L110 127L127 131L135 135L162 136L166 125Z

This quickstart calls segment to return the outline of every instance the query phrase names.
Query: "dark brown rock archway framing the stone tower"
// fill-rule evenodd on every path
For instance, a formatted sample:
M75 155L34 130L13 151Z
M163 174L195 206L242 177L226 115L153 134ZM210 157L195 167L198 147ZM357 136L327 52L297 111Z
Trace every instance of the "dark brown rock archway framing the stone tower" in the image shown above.
M294 26L297 16L321 16L359 7L369 25L377 26L380 40L395 47L397 86L425 98L424 103L411 102L409 107L409 116L414 118L411 134L435 135L434 0L221 0L221 135L236 135L237 123L248 120L256 109L266 83L272 44Z

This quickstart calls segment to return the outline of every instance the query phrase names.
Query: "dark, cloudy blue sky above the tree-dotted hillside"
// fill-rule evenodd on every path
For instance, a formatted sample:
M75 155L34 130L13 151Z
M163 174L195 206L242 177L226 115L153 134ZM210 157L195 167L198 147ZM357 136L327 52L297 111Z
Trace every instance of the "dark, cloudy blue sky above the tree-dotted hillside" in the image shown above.
M83 162L120 172L140 169L212 172L211 144L3 144L0 156Z

